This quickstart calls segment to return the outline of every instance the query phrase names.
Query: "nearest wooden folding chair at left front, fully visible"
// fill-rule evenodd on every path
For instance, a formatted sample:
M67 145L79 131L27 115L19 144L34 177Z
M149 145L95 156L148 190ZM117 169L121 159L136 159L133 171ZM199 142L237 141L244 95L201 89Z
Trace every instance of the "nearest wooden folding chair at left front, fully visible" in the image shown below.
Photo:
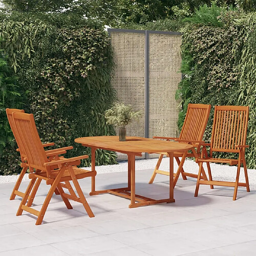
M76 165L80 164L81 159L88 158L87 155L73 157L69 159L60 159L55 161L49 161L46 151L42 146L39 135L37 133L34 117L32 114L16 113L13 114L14 125L19 138L21 139L22 147L25 148L25 154L27 157L27 165L30 169L29 178L31 179L22 202L19 205L17 216L22 215L23 210L30 212L31 214L37 216L36 225L40 225L47 207L50 203L52 195L57 188L62 200L65 202L68 209L72 209L72 206L68 199L80 202L86 209L89 217L94 217L93 212L84 197L81 187L78 183L78 179L85 177L93 177L96 175L96 171L84 170L77 168ZM46 184L51 185L49 192L46 196L41 209L35 210L28 206L27 200L31 193L33 186L35 185L35 179L45 180ZM66 184L60 182L63 181L73 181L76 188L78 196L75 194L74 190L71 194L67 194L63 191L63 188L68 188Z

